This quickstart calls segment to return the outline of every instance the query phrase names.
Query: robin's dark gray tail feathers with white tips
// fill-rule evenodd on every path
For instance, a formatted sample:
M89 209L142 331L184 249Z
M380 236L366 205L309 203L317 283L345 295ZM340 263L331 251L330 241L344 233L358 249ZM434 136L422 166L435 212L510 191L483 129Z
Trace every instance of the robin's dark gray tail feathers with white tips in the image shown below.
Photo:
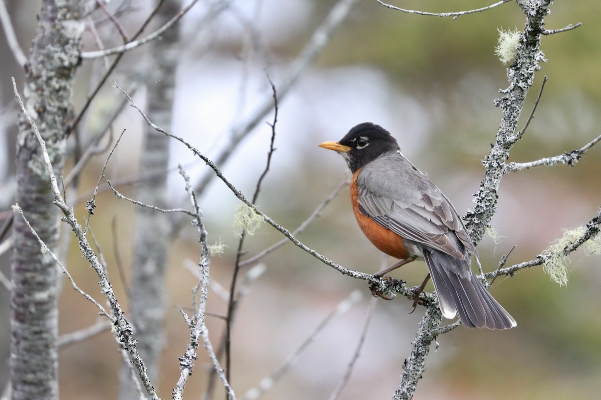
M509 329L517 325L478 281L468 254L462 260L435 249L424 249L423 255L445 318L459 314L459 320L468 328Z

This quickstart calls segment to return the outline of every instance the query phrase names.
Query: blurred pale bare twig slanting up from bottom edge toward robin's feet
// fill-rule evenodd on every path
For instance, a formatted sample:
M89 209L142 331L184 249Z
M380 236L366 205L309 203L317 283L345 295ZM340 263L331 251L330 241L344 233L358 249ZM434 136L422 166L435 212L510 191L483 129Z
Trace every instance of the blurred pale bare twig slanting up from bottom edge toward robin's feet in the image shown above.
M326 317L322 321L322 323L320 323L316 327L313 333L311 333L311 335L307 339L305 339L305 341L302 342L302 344L284 360L284 362L281 366L279 366L278 369L273 371L273 373L270 374L268 377L261 379L261 383L257 387L249 389L244 394L244 396L242 396L242 400L257 399L262 393L273 387L273 385L288 371L290 371L290 368L292 368L298 362L302 354L307 350L307 348L310 347L311 344L313 344L313 342L317 340L317 338L319 338L319 336L323 333L326 327L328 327L329 324L331 324L332 321L335 320L335 318L338 318L340 317L340 315L343 315L344 313L349 311L349 309L352 308L352 306L355 305L356 302L361 300L361 297L361 292L358 290L355 290L352 293L350 293L349 296L347 296L346 299L341 301L336 306L334 311L332 311L331 314L329 314L328 317Z

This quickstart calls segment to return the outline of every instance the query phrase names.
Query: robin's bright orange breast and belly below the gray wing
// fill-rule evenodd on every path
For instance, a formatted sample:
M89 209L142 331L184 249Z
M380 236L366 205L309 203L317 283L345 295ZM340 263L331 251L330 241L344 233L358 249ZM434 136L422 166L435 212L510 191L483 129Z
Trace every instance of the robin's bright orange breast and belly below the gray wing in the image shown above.
M355 213L359 228L367 236L367 239L370 239L370 242L380 251L401 260L410 257L409 249L404 245L403 237L382 227L382 225L379 225L376 221L359 211L359 191L357 189L357 175L359 171L361 170L359 169L353 174L353 179L350 183L350 203L353 206L353 212Z

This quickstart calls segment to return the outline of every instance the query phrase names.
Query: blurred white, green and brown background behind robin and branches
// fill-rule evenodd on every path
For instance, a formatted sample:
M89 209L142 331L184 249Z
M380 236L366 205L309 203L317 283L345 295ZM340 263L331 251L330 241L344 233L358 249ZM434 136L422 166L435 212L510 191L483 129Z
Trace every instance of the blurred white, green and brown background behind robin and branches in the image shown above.
M115 10L123 2L112 1ZM129 1L120 23L135 31L151 10L152 2ZM188 2L185 2L187 4ZM315 29L336 2L332 0L231 1L215 18L205 19L213 3L200 1L181 20L182 46L177 71L172 131L212 158L226 146L236 146L233 157L220 165L225 176L247 197L255 190L264 169L273 112L240 143L230 143L230 132L267 101L288 75ZM444 12L484 7L482 1L422 1L393 3L413 10ZM7 1L19 43L28 53L35 31L39 1ZM547 29L582 22L574 31L543 37L548 62L535 76L521 126L530 113L543 76L548 76L542 100L510 161L532 161L578 149L601 132L601 4L557 2L546 19ZM507 87L505 66L494 54L498 29L522 29L524 16L514 2L484 13L452 18L416 16L389 10L376 1L353 5L346 22L332 35L316 62L279 101L275 147L269 174L257 204L284 227L293 230L308 218L349 177L343 159L317 148L325 140L338 140L354 125L370 121L382 125L398 139L413 163L453 201L460 214L472 205L484 169L481 160L494 141L501 111L493 107L498 89ZM150 31L148 31L150 32ZM113 25L99 26L105 46L120 44ZM96 50L91 35L84 50ZM17 106L10 77L23 86L23 71L7 43L0 40L0 216L7 218L14 182L14 142ZM144 108L147 48L124 56L111 76L125 89L138 85L134 100ZM75 107L78 111L102 61L84 61L78 71ZM85 120L82 134L102 125L106 110L122 100L112 82L103 87ZM149 116L152 119L152 116ZM263 122L264 121L264 122ZM126 134L111 159L106 176L135 178L143 122L126 107L113 125ZM575 167L555 166L526 170L504 177L499 188L499 209L492 220L498 243L485 237L478 246L485 270L516 246L508 264L531 260L558 237L564 228L585 224L597 212L601 199L601 148L593 148ZM84 216L84 200L96 185L106 155L94 158L84 170L76 204ZM209 172L180 143L171 143L169 207L185 199L184 182L177 174L183 164L192 179ZM133 179L135 181L135 179ZM136 198L144 182L121 185ZM111 282L127 310L124 282L115 267L121 258L125 279L132 258L132 227L137 207L117 200L102 185L92 228L102 245ZM75 203L75 199L71 199ZM144 201L144 199L139 199ZM209 242L227 245L213 257L211 278L229 287L238 238L233 221L239 201L221 181L213 179L200 198ZM186 206L188 203L185 203ZM116 230L112 225L115 221ZM281 239L262 225L245 242L248 256ZM347 188L299 235L305 244L350 269L375 272L385 262L382 254L361 234L350 209ZM115 246L117 243L117 246ZM79 287L102 302L97 278L71 242L68 269ZM169 398L179 375L177 357L188 344L188 327L178 311L192 304L196 278L185 267L197 263L200 246L194 228L183 227L170 243L167 341L159 382L159 395ZM415 399L582 399L601 391L601 269L599 255L575 252L565 287L549 280L542 267L522 270L513 278L495 281L492 294L516 318L518 326L505 332L459 327L438 338ZM233 336L232 383L238 396L257 386L293 353L335 307L353 290L361 300L332 321L279 380L264 399L326 399L342 378L355 351L371 301L364 281L343 276L316 258L287 244L261 260L266 270L249 287L239 304ZM9 258L0 258L2 272L10 272ZM421 283L425 264L415 262L392 276L411 285ZM429 290L432 290L429 285ZM0 287L0 386L8 378L8 315L10 296ZM377 300L361 356L340 399L391 398L409 356L410 342L424 309L413 314L411 301ZM226 304L209 295L209 311L223 314ZM82 329L96 321L97 310L80 294L64 285L60 333ZM210 335L221 337L223 321L209 317ZM65 348L59 354L60 393L63 399L114 398L121 363L109 332ZM186 398L200 398L207 381L206 353L186 387ZM216 396L220 398L221 396Z

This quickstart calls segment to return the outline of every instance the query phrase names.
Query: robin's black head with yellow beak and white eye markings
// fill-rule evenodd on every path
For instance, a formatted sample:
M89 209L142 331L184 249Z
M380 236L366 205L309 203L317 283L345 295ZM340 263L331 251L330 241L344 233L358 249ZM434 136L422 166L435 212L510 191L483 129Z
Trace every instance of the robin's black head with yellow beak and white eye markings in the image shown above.
M380 155L399 149L397 140L387 130L371 122L356 125L340 142L323 142L319 146L343 155L353 173Z

